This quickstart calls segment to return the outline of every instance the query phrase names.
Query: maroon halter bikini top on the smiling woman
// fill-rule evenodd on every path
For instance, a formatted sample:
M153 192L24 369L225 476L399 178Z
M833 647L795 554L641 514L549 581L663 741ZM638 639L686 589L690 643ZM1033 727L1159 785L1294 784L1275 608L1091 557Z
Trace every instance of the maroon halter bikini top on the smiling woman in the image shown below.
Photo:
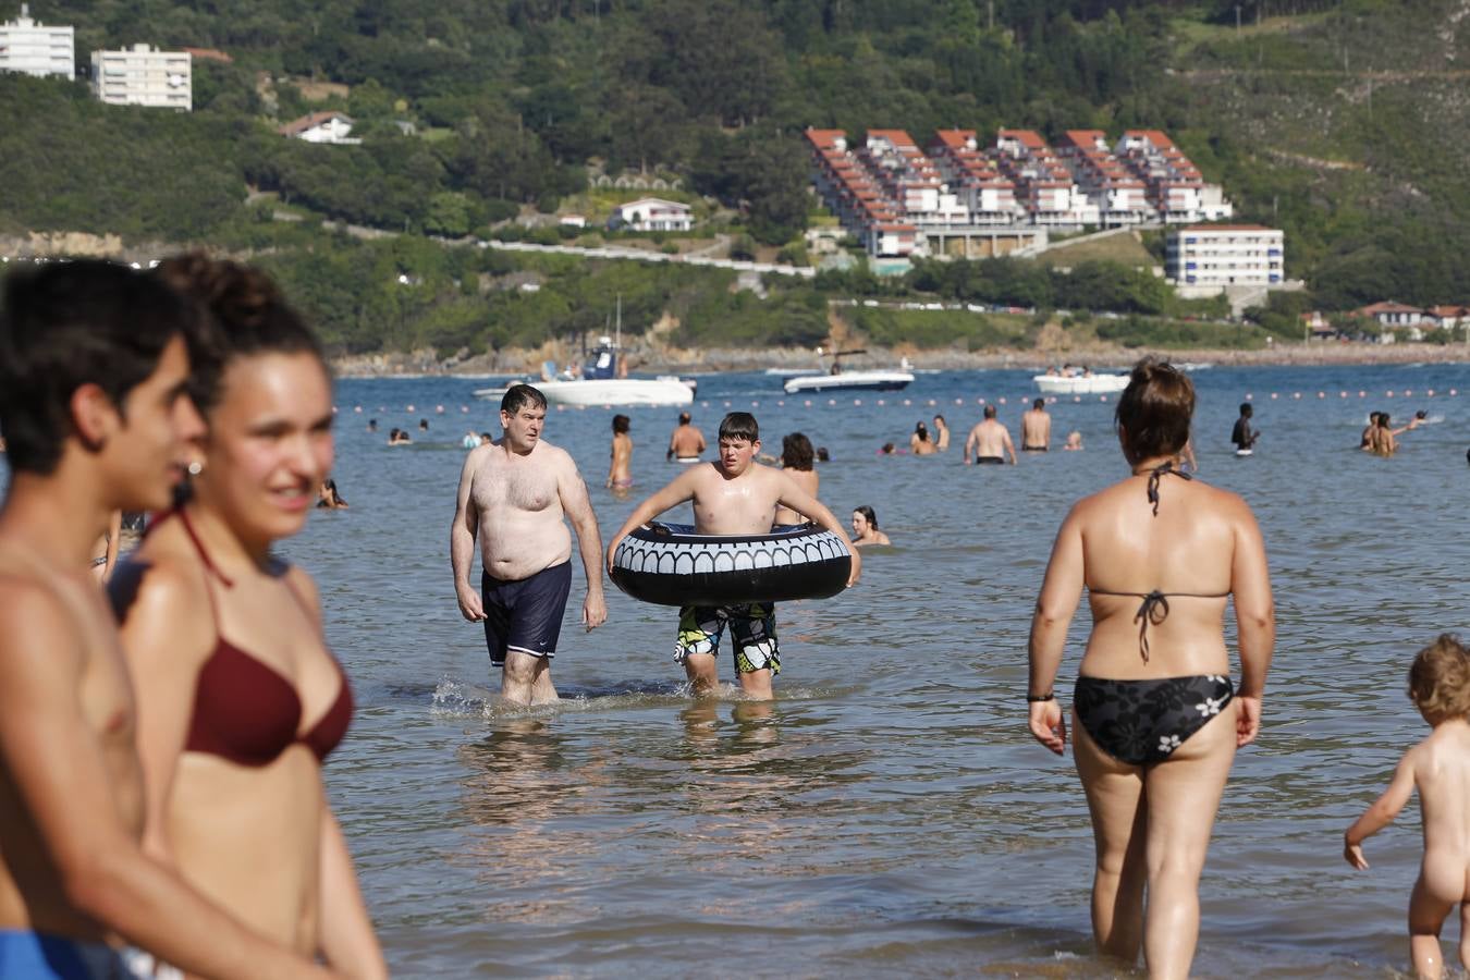
M176 510L165 514L163 519L172 514L178 514L182 522L209 577L219 579L225 588L229 588L231 580L209 560L188 516L182 510ZM162 519L156 523L162 523ZM307 608L295 588L291 586L290 579L285 579L285 585L295 601ZM347 735L347 726L353 717L353 692L341 664L332 658L332 666L337 667L337 674L343 680L337 699L309 732L300 733L301 698L295 692L295 685L219 633L215 589L212 583L206 583L206 588L209 589L210 616L215 621L215 651L198 671L198 685L194 688L194 716L190 718L184 751L218 755L237 765L268 765L281 752L301 742L316 754L318 761L325 760Z

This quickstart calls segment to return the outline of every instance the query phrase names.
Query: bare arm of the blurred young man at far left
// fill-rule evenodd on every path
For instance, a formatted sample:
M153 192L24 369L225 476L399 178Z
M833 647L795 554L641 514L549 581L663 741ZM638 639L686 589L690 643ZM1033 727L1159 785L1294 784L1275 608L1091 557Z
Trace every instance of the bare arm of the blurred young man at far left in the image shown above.
M34 588L0 589L25 635L0 632L0 758L35 820L66 901L181 970L222 980L329 977L237 923L144 857L78 699L81 641Z

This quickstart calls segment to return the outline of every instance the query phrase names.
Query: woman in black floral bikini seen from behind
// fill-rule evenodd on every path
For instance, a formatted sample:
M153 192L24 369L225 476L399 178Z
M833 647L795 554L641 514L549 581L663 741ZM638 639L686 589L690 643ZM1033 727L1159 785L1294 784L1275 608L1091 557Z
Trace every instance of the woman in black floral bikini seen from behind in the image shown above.
M1151 977L1186 977L1200 874L1236 748L1255 739L1276 638L1266 548L1250 507L1179 470L1194 385L1145 359L1117 404L1132 475L1079 501L1057 532L1030 626L1030 732L1061 754L1053 682L1091 594L1073 693L1073 758L1092 813L1092 932ZM1235 597L1241 686L1225 605ZM1147 912L1144 896L1148 896Z

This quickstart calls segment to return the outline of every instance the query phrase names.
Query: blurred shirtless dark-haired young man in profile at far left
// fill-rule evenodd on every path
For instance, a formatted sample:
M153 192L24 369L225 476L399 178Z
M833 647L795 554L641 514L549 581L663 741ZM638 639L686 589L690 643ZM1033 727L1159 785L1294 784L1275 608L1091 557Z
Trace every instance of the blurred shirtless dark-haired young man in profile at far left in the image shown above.
M0 317L0 976L131 977L118 936L190 974L329 976L143 855L118 629L90 569L115 510L169 505L203 423L191 309L100 262L18 272Z

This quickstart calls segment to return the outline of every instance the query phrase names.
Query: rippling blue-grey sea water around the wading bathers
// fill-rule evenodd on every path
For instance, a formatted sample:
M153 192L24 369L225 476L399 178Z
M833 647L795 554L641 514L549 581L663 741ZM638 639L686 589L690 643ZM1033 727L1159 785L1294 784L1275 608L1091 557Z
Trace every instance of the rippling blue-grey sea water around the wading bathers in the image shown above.
M1470 627L1470 392L1446 394L1470 372L1216 367L1195 381L1201 478L1254 507L1279 616L1263 733L1216 824L1195 974L1394 976L1408 965L1417 808L1369 842L1372 871L1348 868L1341 835L1426 732L1404 696L1408 660ZM507 710L447 558L459 439L470 423L498 433L492 406L470 398L481 383L341 382L335 476L351 510L315 514L284 548L322 585L356 686L328 782L395 974L1117 973L1092 955L1092 842L1070 757L1032 741L1022 701L1051 536L1072 501L1126 473L1111 401L1053 406L1053 445L1076 428L1083 453L963 467L976 398L1004 397L1019 436L1028 373L920 375L883 406L850 394L813 407L760 375L701 378L695 422L710 438L728 407L757 414L767 448L806 432L832 451L822 500L844 519L873 505L894 547L866 552L857 589L781 607L773 705L689 699L672 610L613 589L609 623L584 633L578 572L554 661L566 701ZM1264 436L1236 460L1227 436L1247 392ZM1435 422L1402 436L1398 458L1370 458L1355 447L1379 407L1396 425L1419 407ZM954 429L947 455L875 455L935 410ZM601 489L612 411L553 411L545 432L581 464L604 533L673 473L676 411L622 411L632 498ZM394 425L417 442L387 448ZM1446 924L1446 951L1457 936Z

